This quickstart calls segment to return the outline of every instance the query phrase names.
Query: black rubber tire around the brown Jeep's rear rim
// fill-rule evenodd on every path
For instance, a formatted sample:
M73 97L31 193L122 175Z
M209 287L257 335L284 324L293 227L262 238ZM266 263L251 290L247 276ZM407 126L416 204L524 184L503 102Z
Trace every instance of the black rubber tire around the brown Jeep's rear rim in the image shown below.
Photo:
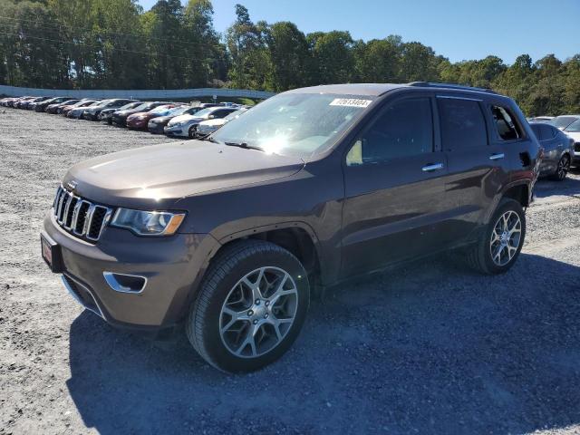
M498 224L499 218L504 216L508 211L515 212L521 223L521 233L518 240L517 250L511 259L506 264L498 265L491 253L491 239L494 233L494 228ZM517 261L517 257L522 250L524 241L526 239L526 214L524 209L514 199L503 198L498 204L498 208L494 212L487 227L479 236L477 244L470 247L467 252L468 265L474 270L485 275L498 275L506 273Z

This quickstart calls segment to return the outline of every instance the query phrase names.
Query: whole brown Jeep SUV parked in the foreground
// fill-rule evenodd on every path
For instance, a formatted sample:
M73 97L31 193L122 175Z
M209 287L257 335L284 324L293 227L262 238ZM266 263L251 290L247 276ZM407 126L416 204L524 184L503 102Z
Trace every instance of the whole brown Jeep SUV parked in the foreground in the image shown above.
M43 257L111 324L185 322L227 372L294 342L314 291L446 249L485 274L524 243L539 146L515 102L427 82L281 93L208 140L68 171Z

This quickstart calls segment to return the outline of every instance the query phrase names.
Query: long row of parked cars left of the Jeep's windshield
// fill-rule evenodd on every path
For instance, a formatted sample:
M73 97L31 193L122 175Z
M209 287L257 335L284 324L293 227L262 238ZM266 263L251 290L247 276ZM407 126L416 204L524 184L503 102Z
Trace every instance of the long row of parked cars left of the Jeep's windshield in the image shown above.
M0 100L0 105L62 114L76 120L102 121L118 127L181 138L208 136L248 109L247 106L233 102L185 104L139 102L121 98L96 100L34 96L5 98Z

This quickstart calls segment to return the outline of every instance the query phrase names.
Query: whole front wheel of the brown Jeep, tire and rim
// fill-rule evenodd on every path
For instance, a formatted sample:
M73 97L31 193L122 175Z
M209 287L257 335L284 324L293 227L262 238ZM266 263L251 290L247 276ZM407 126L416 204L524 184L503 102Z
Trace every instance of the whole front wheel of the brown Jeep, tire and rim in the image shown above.
M210 266L191 305L189 342L225 372L251 372L280 358L304 324L304 266L269 242L234 243Z

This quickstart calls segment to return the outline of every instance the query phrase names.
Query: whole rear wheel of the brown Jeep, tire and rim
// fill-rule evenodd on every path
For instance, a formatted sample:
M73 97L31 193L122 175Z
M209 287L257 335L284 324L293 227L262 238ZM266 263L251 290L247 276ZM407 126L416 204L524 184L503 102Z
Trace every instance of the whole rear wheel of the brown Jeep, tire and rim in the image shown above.
M516 200L503 198L478 243L469 248L469 266L486 275L507 272L516 263L525 237L524 209Z

